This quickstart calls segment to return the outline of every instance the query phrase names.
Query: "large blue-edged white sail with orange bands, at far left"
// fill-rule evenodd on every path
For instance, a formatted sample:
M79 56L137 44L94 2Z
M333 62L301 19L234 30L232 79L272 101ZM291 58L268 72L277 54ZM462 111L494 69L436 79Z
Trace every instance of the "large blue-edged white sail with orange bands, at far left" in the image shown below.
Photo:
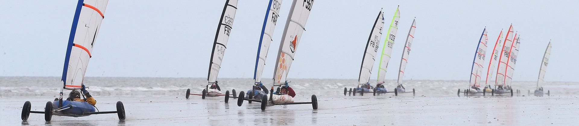
M72 20L68 37L67 54L64 59L64 89L80 89L85 78L86 67L93 52L102 19L105 17L108 0L80 0Z

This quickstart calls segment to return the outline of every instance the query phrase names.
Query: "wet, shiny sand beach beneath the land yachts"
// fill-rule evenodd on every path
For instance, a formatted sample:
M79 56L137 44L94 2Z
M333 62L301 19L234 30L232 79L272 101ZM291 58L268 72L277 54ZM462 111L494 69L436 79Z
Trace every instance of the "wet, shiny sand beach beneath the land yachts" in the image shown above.
M404 94L406 95L406 94ZM31 113L21 121L25 101L32 110L44 110L54 97L0 97L0 125L573 125L579 117L579 98L551 97L411 97L411 96L318 96L318 110L312 105L276 105L259 109L255 102L237 106L223 97L201 100L191 96L96 97L101 111L115 110L122 101L127 119L116 114L87 117L53 116L46 123L43 114ZM310 101L297 96L296 102Z

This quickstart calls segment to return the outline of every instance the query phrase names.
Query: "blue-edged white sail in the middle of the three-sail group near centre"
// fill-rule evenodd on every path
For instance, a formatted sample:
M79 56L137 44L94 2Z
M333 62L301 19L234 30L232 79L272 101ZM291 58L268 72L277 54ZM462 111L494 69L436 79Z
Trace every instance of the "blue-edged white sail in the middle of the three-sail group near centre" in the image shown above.
M263 28L261 29L261 36L259 37L259 47L257 49L257 58L255 59L254 82L261 82L261 75L263 67L265 66L265 59L267 58L267 51L269 45L272 43L273 30L276 28L277 17L280 17L280 7L282 0L269 0L267 11L265 12L265 19L263 20Z

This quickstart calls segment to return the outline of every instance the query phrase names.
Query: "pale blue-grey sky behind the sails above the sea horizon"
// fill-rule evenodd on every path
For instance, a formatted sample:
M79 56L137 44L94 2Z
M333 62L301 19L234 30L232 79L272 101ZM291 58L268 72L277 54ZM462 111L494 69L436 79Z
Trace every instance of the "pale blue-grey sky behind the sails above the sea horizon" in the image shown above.
M219 78L253 77L267 3L239 1ZM291 3L281 3L264 79L273 77ZM109 1L86 77L206 78L223 4L225 0ZM288 78L357 79L376 14L383 8L387 28L398 5L398 39L386 79L398 77L405 36L416 17L404 79L470 79L483 28L488 30L489 56L500 30L513 24L521 35L514 81L537 80L549 40L552 55L545 81L579 81L578 1L318 0ZM0 76L61 77L75 6L76 1L0 1ZM373 68L375 79L378 61Z

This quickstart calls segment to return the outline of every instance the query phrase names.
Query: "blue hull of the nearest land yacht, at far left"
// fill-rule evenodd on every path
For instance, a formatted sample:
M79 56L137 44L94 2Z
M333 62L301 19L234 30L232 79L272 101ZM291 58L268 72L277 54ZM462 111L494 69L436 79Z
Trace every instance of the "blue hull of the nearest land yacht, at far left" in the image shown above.
M57 116L82 117L89 116L89 114L83 115L85 112L96 112L96 108L87 102L63 100L63 106L64 108L72 106L72 108L54 112L53 114ZM52 102L52 108L58 108L58 101Z

